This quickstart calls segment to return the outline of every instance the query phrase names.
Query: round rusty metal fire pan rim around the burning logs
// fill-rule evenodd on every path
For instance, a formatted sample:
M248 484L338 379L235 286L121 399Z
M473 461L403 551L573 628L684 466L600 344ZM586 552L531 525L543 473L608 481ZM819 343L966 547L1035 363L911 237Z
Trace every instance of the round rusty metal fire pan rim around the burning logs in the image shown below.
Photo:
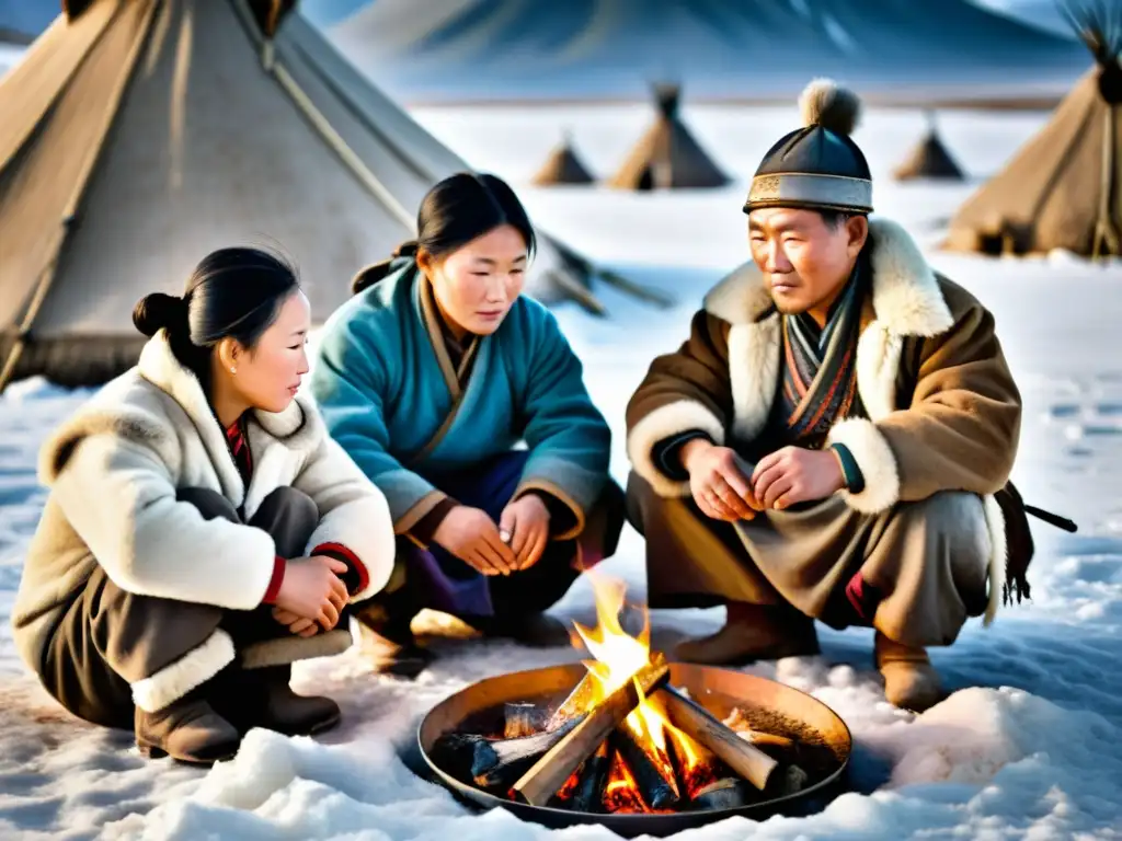
M844 789L844 776L853 749L853 737L842 718L816 697L775 681L743 672L709 666L673 663L670 681L687 690L695 701L724 719L734 706L746 711L764 709L799 722L817 732L838 757L837 770L801 792L726 810L678 812L673 814L594 814L563 808L532 806L503 800L461 783L436 765L430 751L444 733L463 729L471 717L502 708L505 702L535 702L557 705L585 676L579 663L537 668L489 677L475 683L436 704L421 721L417 742L421 755L436 779L463 803L484 808L505 808L518 817L550 829L598 823L625 838L670 835L681 830L744 815L763 820L771 814L810 814L820 811Z

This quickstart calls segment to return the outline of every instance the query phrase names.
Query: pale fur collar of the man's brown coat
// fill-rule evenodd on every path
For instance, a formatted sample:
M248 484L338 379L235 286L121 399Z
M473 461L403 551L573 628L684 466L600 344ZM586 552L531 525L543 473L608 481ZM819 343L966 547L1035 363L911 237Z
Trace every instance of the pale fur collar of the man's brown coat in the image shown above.
M870 219L873 266L873 311L888 333L898 336L938 335L954 318L931 267L914 240L895 222ZM705 308L730 324L758 321L772 306L763 275L749 260L705 298Z

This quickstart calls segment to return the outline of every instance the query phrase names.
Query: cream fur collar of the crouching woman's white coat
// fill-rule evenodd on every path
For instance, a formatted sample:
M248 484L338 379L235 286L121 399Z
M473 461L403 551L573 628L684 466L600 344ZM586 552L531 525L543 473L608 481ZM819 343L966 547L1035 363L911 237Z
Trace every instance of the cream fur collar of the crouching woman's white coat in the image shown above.
M314 404L300 396L284 412L255 410L252 418L256 424L249 425L248 434L255 453L269 440L288 450L312 452L324 434ZM105 383L47 440L39 451L39 481L53 484L83 438L107 432L151 446L175 470L182 458L177 436L185 432L184 420L190 420L205 445L226 496L243 499L246 489L230 455L226 431L214 417L199 379L172 353L163 331L145 344L135 368Z

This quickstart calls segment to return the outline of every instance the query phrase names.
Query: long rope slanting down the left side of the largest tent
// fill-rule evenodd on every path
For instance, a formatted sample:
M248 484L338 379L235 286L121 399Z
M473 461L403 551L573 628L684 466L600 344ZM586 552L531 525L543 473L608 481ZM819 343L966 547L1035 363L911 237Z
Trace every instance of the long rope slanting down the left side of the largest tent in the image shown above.
M141 45L144 45L148 39L148 33L151 28L151 21L155 17L157 6L157 2L150 2L144 12L140 26L137 27L136 39L132 41L132 46L129 48L129 54L125 58L122 72L117 77L113 90L110 93L109 101L105 103L105 111L101 115L101 126L98 127L98 133L95 135L96 141L91 144L85 158L82 161L82 166L79 169L77 178L74 182L74 190L71 193L70 198L66 201L62 219L59 220L58 228L55 231L54 241L52 242L50 250L48 251L46 266L44 266L43 270L39 272L39 279L36 284L35 293L27 305L24 317L20 318L16 341L12 343L11 350L8 352L8 358L4 360L3 369L0 370L0 392L3 392L3 390L8 387L9 381L15 376L16 366L24 355L24 349L27 346L28 341L30 341L31 326L35 324L35 320L39 315L39 309L43 308L43 304L47 299L47 294L54 285L56 270L58 268L58 258L62 255L63 246L65 246L66 238L70 234L70 229L77 216L79 205L82 203L82 198L85 195L85 187L90 182L91 175L93 174L93 167L98 163L98 158L101 156L101 149L105 145L105 138L109 136L109 129L113 124L113 120L120 109L121 99L125 96L125 89L128 86L129 80L132 78L132 71L135 70L137 61L140 57ZM123 13L123 6L121 6L114 12L114 17L116 15ZM90 49L95 48L107 31L109 31L108 26L101 30L96 40L90 45Z

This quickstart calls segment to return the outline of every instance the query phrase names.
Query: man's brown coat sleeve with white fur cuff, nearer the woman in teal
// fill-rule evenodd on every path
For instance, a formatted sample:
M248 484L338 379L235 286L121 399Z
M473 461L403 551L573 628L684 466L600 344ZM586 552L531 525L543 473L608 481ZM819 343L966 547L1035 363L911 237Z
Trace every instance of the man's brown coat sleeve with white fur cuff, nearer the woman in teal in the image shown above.
M728 331L727 322L698 311L690 338L651 363L627 404L627 454L635 472L661 496L684 496L689 482L675 481L656 464L652 456L660 443L693 431L725 443L733 419Z

